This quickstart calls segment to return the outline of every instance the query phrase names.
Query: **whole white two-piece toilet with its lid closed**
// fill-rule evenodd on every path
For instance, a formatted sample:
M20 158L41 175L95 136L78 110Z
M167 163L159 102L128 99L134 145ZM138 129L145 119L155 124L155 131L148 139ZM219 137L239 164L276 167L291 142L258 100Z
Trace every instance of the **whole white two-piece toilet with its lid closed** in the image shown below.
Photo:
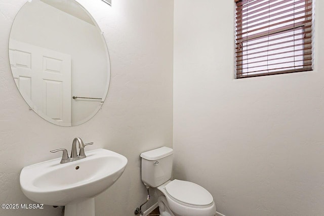
M213 196L203 187L187 181L173 180L173 149L161 147L143 152L142 181L158 189L161 216L214 216Z

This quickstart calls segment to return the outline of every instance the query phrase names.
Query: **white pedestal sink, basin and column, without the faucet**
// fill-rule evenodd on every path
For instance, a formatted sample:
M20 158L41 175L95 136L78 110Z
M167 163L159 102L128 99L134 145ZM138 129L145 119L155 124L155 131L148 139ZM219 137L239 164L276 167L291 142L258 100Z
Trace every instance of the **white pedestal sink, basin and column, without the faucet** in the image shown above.
M65 216L95 216L94 197L123 174L127 158L106 149L86 152L84 159L60 163L61 158L24 167L23 193L46 205L65 206Z

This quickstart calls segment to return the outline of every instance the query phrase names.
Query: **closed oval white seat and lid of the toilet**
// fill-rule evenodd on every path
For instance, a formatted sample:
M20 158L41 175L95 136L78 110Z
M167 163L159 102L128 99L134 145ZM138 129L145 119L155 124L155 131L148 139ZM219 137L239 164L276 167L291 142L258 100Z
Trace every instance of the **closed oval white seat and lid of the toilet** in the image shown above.
M170 198L182 205L204 208L214 203L209 191L192 182L173 180L165 189Z

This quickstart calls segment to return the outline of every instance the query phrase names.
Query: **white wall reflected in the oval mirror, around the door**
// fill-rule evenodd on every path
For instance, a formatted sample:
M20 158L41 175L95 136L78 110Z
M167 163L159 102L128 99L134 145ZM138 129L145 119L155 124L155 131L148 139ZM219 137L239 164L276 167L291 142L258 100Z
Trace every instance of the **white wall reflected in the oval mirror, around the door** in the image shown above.
M108 66L105 45L96 26L33 1L19 11L10 36L71 56L71 98L103 96ZM71 99L72 125L91 116L99 105L98 100Z

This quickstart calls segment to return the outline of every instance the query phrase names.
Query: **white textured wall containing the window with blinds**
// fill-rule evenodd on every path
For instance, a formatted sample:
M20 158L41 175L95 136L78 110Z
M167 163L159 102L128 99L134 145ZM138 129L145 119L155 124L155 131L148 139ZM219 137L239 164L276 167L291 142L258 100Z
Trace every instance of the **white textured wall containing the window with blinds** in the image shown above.
M175 177L226 216L324 215L324 2L313 72L234 79L233 14L175 0Z

